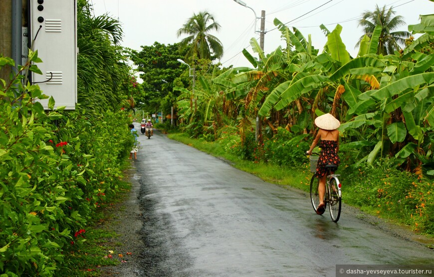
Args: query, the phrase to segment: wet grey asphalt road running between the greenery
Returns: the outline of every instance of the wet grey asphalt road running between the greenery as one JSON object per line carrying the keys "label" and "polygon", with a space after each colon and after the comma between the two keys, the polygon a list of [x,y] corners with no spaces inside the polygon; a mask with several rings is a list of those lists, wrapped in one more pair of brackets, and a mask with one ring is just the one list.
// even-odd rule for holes
{"label": "wet grey asphalt road running between the greenery", "polygon": [[434,264],[433,250],[345,206],[335,224],[328,210],[314,213],[307,193],[266,183],[158,131],[139,141],[140,276],[329,277],[336,264]]}

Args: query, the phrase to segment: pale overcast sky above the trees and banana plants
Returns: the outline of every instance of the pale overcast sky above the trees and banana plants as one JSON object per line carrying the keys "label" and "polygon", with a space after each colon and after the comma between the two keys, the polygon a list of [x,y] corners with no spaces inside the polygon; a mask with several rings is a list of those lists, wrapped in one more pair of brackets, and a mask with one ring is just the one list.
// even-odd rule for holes
{"label": "pale overcast sky above the trees and banana plants", "polygon": [[[243,0],[247,8],[233,0],[90,0],[95,15],[107,13],[119,18],[124,38],[122,45],[141,50],[142,45],[155,41],[164,44],[179,42],[176,32],[194,13],[207,10],[220,24],[213,32],[223,44],[224,55],[220,62],[224,66],[251,66],[241,51],[246,48],[253,54],[249,41],[259,35],[254,32],[254,12],[259,17],[265,10],[264,51],[270,53],[283,45],[279,30],[275,29],[274,18],[287,26],[297,27],[307,38],[311,34],[312,44],[320,49],[327,38],[320,24],[333,30],[337,23],[343,26],[341,37],[353,56],[358,49],[354,46],[362,35],[358,19],[366,10],[393,6],[396,15],[404,16],[407,25],[420,22],[419,15],[434,13],[434,2],[430,0]],[[253,9],[253,10],[252,10]],[[254,12],[253,12],[254,11]],[[306,14],[307,13],[307,14]],[[305,14],[305,15],[304,15]],[[399,30],[408,30],[407,25]],[[257,20],[259,29],[260,20]]]}

